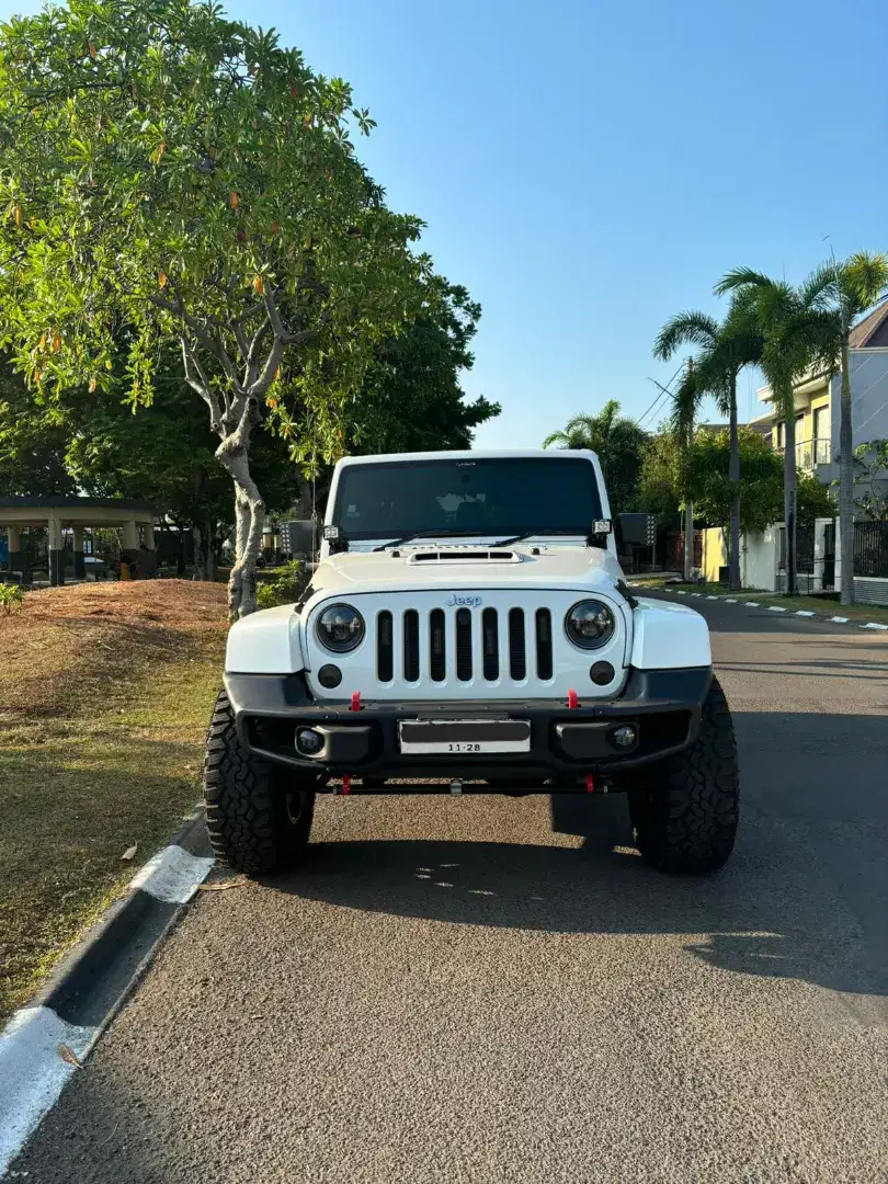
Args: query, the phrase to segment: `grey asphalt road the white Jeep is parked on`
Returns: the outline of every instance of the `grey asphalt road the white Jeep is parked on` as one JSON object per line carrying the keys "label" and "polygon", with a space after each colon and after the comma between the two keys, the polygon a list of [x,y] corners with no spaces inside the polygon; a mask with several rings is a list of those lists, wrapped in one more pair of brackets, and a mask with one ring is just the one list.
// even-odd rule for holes
{"label": "grey asphalt road the white Jeep is parked on", "polygon": [[202,893],[14,1165],[27,1184],[888,1180],[888,641],[695,601],[732,862],[622,799],[326,799]]}

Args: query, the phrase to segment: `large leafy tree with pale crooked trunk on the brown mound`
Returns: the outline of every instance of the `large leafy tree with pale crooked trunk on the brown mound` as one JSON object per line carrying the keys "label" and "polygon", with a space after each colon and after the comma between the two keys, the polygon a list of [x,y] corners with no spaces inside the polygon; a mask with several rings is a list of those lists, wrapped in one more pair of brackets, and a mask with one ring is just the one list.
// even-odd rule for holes
{"label": "large leafy tree with pale crooked trunk on the brown mound", "polygon": [[256,603],[270,414],[340,446],[339,408],[414,311],[419,221],[354,155],[373,121],[274,31],[189,0],[70,0],[0,28],[4,333],[44,397],[112,381],[134,406],[165,343],[208,410],[236,491],[232,618]]}

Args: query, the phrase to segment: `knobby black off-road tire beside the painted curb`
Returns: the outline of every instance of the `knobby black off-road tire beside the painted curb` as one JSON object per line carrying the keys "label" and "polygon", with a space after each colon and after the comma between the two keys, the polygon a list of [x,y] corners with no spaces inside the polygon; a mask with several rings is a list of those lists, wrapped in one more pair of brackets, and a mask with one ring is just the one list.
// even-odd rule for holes
{"label": "knobby black off-road tire beside the painted curb", "polygon": [[308,845],[315,810],[313,786],[281,771],[240,742],[224,690],[210,720],[204,800],[215,855],[237,871],[260,875],[295,868]]}

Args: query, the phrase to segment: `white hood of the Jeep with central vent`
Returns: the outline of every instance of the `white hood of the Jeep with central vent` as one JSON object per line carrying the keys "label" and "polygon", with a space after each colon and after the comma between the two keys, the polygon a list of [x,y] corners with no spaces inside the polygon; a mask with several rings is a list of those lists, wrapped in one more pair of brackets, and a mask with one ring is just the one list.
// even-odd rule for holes
{"label": "white hood of the Jeep with central vent", "polygon": [[[586,546],[488,548],[411,547],[391,552],[346,552],[318,565],[311,588],[318,592],[410,591],[413,588],[612,587],[623,578],[609,552]],[[474,553],[474,558],[469,558]],[[508,555],[509,558],[496,558]]]}

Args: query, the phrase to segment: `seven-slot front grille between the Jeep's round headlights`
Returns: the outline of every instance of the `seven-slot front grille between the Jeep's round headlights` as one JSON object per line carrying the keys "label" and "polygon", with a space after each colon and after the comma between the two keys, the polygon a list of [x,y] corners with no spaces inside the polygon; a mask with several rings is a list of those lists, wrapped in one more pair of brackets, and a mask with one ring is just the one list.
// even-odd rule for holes
{"label": "seven-slot front grille between the Jeep's round headlights", "polygon": [[[392,682],[397,677],[412,683],[426,677],[436,683],[453,677],[458,682],[496,682],[500,678],[523,682],[528,674],[547,682],[553,677],[552,613],[548,609],[471,612],[459,607],[455,612],[432,609],[427,613],[406,609],[399,617],[400,629],[395,630],[390,610],[377,616],[377,678],[380,682]],[[426,669],[423,669],[423,655]]]}

